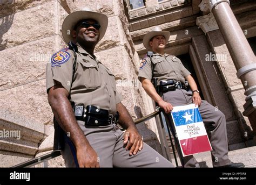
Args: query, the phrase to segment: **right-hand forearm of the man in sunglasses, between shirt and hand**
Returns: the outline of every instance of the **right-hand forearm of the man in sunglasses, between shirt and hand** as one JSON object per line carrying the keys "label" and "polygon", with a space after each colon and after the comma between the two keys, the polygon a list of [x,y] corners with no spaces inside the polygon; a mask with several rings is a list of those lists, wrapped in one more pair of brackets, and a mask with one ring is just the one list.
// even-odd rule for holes
{"label": "right-hand forearm of the man in sunglasses, between shirt and hand", "polygon": [[117,111],[119,112],[119,120],[118,123],[124,128],[127,129],[129,126],[135,126],[129,112],[125,108],[125,106],[122,103],[118,103],[117,105]]}

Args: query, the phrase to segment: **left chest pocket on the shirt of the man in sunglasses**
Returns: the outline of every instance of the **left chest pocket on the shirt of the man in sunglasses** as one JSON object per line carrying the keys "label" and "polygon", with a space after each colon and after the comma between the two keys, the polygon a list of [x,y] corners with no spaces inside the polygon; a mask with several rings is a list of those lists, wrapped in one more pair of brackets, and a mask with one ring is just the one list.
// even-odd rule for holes
{"label": "left chest pocket on the shirt of the man in sunglasses", "polygon": [[100,72],[96,64],[84,61],[83,66],[83,80],[86,89],[97,89],[101,85]]}

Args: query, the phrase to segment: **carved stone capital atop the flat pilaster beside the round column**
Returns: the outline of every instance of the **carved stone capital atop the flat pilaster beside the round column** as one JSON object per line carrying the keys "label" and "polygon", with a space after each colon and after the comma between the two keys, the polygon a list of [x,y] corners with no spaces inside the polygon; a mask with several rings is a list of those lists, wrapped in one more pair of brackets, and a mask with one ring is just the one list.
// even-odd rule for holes
{"label": "carved stone capital atop the flat pilaster beside the round column", "polygon": [[201,16],[197,18],[197,25],[203,32],[206,34],[207,32],[218,30],[219,26],[212,15],[212,13],[209,13],[205,16]]}

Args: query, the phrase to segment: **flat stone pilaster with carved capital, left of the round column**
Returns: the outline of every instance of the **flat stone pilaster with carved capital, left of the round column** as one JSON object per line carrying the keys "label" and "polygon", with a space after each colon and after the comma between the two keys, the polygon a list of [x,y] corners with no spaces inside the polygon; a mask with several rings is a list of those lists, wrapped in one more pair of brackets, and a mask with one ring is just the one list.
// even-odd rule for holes
{"label": "flat stone pilaster with carved capital, left of the round column", "polygon": [[192,40],[195,52],[200,58],[201,64],[198,68],[201,68],[207,79],[204,82],[207,89],[204,88],[204,91],[211,94],[211,101],[206,96],[205,98],[226,116],[229,149],[244,148],[245,140],[252,138],[251,129],[247,126],[250,122],[241,113],[244,111],[242,104],[245,102],[245,90],[241,81],[234,78],[237,70],[212,13],[197,17],[197,25],[206,34]]}

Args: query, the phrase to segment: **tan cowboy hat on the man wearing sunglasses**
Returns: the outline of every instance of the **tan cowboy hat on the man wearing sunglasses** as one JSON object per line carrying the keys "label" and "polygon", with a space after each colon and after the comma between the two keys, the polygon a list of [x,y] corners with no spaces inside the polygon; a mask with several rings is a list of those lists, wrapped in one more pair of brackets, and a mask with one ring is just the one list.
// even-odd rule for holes
{"label": "tan cowboy hat on the man wearing sunglasses", "polygon": [[62,24],[62,36],[66,43],[73,39],[71,31],[74,29],[75,25],[83,19],[96,20],[100,25],[99,40],[103,38],[107,29],[107,23],[109,22],[107,16],[103,13],[94,12],[90,8],[83,8],[80,11],[70,13]]}

